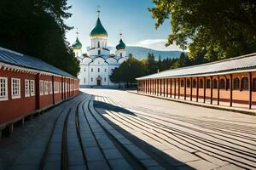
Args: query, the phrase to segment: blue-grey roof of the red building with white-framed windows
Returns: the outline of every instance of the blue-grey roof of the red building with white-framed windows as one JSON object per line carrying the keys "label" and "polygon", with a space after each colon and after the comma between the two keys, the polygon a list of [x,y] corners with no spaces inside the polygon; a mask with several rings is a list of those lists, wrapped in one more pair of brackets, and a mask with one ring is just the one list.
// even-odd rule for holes
{"label": "blue-grey roof of the red building with white-framed windows", "polygon": [[[61,71],[53,65],[49,65],[41,59],[33,58],[31,56],[20,54],[15,51],[1,48],[0,47],[0,63],[20,66],[28,69],[38,70],[38,71],[46,71],[49,73],[53,73],[56,75],[64,76],[64,77],[73,77],[69,73],[65,71]],[[76,78],[76,77],[73,77]]]}

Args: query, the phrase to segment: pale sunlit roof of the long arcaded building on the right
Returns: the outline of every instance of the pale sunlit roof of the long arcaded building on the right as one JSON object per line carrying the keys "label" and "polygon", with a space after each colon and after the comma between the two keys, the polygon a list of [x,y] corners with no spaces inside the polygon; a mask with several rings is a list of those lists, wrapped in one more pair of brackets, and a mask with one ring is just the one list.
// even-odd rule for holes
{"label": "pale sunlit roof of the long arcaded building on the right", "polygon": [[256,69],[256,53],[242,55],[231,59],[219,60],[202,65],[193,65],[183,68],[171,69],[168,71],[161,71],[146,77],[138,77],[137,80],[162,77],[210,76],[214,74],[225,74],[253,69]]}

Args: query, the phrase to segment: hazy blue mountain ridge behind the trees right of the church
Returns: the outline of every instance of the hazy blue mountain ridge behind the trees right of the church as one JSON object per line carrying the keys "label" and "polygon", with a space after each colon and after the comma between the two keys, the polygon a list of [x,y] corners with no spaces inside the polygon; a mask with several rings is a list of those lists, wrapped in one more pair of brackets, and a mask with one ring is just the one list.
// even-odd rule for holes
{"label": "hazy blue mountain ridge behind the trees right of the church", "polygon": [[159,59],[159,56],[161,56],[161,59],[166,58],[177,58],[182,53],[182,51],[160,51],[160,50],[154,50],[151,48],[143,48],[143,47],[136,47],[136,46],[126,46],[126,54],[132,54],[132,56],[136,57],[137,59],[143,59],[148,56],[148,53],[154,54],[154,59]]}

